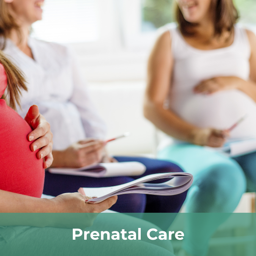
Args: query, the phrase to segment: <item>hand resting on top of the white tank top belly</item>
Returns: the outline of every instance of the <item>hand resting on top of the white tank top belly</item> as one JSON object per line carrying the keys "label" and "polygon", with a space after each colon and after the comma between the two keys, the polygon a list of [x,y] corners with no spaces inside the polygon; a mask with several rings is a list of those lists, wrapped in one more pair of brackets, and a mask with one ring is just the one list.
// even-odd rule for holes
{"label": "hand resting on top of the white tank top belly", "polygon": [[239,89],[245,81],[239,77],[214,77],[203,80],[194,88],[195,93],[212,94],[222,90]]}

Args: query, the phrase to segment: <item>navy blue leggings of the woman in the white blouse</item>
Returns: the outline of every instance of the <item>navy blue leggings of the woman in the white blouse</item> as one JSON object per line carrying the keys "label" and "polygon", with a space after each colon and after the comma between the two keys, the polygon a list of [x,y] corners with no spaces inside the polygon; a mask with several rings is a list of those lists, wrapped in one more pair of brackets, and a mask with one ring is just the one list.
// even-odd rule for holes
{"label": "navy blue leggings of the woman in the white blouse", "polygon": [[[146,172],[141,176],[133,177],[107,177],[93,178],[84,176],[72,176],[63,174],[52,174],[46,172],[44,181],[44,194],[57,196],[62,193],[77,192],[80,187],[109,187],[124,184],[140,177],[154,173],[182,172],[182,169],[174,163],[149,159],[145,157],[115,157],[118,162],[141,162],[146,166]],[[152,181],[152,183],[162,183],[168,179]],[[117,212],[179,212],[187,192],[174,196],[157,196],[145,194],[125,194],[119,195],[116,204],[110,209]],[[138,216],[139,217],[139,216]]]}

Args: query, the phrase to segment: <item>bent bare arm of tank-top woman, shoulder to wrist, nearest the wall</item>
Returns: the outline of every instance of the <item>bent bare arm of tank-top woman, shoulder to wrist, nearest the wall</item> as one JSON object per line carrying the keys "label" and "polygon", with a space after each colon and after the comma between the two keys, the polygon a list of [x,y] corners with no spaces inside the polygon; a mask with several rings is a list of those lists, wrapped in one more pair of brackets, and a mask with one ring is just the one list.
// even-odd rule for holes
{"label": "bent bare arm of tank-top woman, shoulder to wrist, nearest the wall", "polygon": [[163,104],[171,84],[173,56],[170,32],[157,40],[148,61],[148,83],[144,99],[144,115],[163,132],[184,141],[192,141],[197,127],[183,121]]}

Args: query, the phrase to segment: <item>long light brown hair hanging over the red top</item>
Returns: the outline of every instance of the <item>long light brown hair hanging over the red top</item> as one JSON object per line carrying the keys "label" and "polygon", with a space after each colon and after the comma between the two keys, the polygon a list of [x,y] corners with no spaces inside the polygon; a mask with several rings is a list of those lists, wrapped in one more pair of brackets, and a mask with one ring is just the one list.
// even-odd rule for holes
{"label": "long light brown hair hanging over the red top", "polygon": [[8,99],[8,105],[16,110],[16,104],[20,107],[19,98],[21,90],[27,91],[24,76],[22,72],[5,57],[2,51],[0,51],[0,63],[5,68],[7,76],[7,94],[2,96],[2,99]]}

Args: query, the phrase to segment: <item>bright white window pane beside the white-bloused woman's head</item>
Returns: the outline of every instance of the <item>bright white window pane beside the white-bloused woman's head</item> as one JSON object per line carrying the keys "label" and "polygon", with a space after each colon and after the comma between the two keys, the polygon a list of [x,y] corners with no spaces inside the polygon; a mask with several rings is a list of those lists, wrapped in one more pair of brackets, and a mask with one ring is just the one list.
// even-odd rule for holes
{"label": "bright white window pane beside the white-bloused woman's head", "polygon": [[46,0],[43,19],[35,22],[32,36],[61,43],[99,39],[97,0]]}

